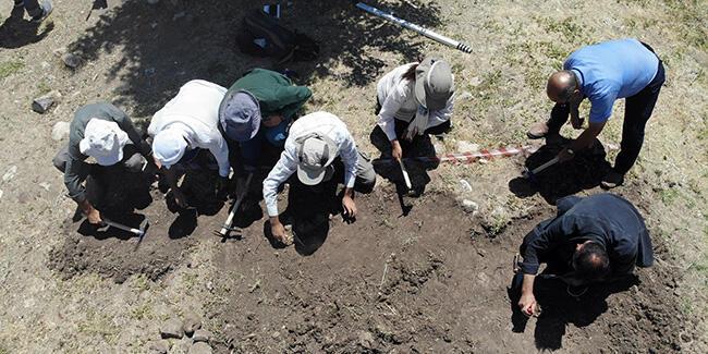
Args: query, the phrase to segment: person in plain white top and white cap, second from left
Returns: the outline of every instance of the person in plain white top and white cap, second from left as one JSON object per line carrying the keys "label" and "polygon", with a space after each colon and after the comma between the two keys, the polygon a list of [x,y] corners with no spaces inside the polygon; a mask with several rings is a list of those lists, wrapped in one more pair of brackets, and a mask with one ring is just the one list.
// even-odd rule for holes
{"label": "person in plain white top and white cap, second from left", "polygon": [[217,194],[228,184],[229,147],[219,132],[219,105],[227,89],[204,80],[193,80],[157,111],[147,129],[152,137],[155,163],[163,168],[174,199],[186,207],[186,199],[176,185],[173,166],[196,156],[197,149],[208,149],[219,166]]}

